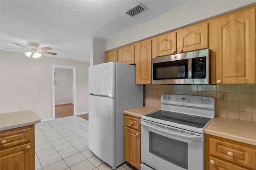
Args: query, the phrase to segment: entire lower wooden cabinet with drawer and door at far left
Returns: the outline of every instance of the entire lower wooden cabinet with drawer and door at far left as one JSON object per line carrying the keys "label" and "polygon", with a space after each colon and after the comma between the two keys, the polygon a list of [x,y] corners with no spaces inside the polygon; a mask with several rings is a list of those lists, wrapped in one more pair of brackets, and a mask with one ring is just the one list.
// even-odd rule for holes
{"label": "entire lower wooden cabinet with drawer and door at far left", "polygon": [[34,125],[0,131],[0,170],[35,169]]}

